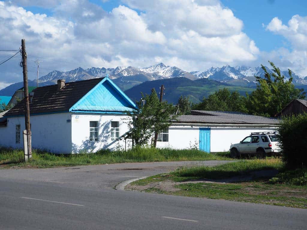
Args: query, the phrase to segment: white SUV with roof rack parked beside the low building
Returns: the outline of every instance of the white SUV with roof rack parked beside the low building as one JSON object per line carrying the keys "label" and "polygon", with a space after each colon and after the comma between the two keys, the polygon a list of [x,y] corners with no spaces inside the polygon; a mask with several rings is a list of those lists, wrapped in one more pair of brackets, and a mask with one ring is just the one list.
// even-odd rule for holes
{"label": "white SUV with roof rack parked beside the low building", "polygon": [[280,155],[276,132],[252,132],[238,144],[231,144],[230,156],[256,155],[258,159]]}

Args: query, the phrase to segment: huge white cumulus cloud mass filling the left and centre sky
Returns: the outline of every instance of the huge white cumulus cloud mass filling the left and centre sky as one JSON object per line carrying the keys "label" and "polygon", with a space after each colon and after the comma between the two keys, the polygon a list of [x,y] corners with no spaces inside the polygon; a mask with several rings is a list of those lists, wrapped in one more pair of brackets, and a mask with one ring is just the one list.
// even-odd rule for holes
{"label": "huge white cumulus cloud mass filling the left and centre sky", "polygon": [[[124,0],[126,6],[111,12],[86,0],[44,2],[0,2],[0,48],[19,47],[25,38],[30,78],[36,57],[44,58],[44,75],[52,69],[156,62],[204,70],[255,61],[260,53],[242,32],[243,22],[217,0]],[[53,15],[33,14],[16,4],[52,7]],[[2,84],[22,80],[17,61],[3,68]]]}

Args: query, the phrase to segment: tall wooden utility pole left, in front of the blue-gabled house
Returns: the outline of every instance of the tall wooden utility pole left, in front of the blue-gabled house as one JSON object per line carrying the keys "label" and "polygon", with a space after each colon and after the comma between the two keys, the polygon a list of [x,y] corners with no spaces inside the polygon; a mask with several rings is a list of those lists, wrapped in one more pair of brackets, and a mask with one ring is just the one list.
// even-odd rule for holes
{"label": "tall wooden utility pole left, in front of the blue-gabled house", "polygon": [[32,157],[31,148],[31,128],[30,128],[30,105],[29,105],[29,88],[28,88],[28,70],[27,70],[27,52],[25,51],[25,39],[21,40],[22,72],[23,72],[23,90],[25,94],[25,129],[27,130],[27,150],[25,160]]}

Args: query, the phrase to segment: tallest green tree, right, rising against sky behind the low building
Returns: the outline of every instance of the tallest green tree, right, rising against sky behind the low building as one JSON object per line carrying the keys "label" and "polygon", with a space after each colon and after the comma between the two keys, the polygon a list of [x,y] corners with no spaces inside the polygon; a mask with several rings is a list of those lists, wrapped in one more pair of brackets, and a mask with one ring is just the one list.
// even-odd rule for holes
{"label": "tallest green tree, right, rising against sky behind the low building", "polygon": [[304,99],[303,89],[297,89],[292,83],[292,72],[289,71],[289,80],[281,74],[280,69],[269,61],[273,68],[273,73],[269,73],[261,65],[265,72],[264,78],[255,76],[258,83],[257,89],[251,94],[246,95],[246,108],[248,113],[266,117],[274,117],[279,113],[292,99]]}

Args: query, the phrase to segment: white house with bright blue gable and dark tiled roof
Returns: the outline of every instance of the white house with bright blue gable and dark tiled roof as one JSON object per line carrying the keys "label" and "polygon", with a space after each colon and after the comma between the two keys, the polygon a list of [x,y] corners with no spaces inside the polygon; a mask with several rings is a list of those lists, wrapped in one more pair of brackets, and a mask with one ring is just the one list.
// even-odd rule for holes
{"label": "white house with bright blue gable and dark tiled roof", "polygon": [[[32,91],[30,123],[33,148],[80,153],[125,146],[126,111],[136,105],[108,78],[44,86]],[[24,101],[0,119],[0,145],[23,148]]]}

